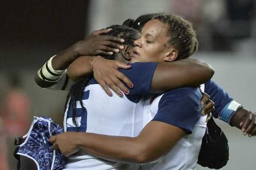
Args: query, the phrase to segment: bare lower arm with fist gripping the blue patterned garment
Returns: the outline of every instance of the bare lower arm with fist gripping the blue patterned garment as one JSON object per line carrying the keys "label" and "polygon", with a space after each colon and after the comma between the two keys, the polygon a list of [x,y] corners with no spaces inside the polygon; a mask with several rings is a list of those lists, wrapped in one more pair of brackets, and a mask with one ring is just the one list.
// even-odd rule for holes
{"label": "bare lower arm with fist gripping the blue patterned garment", "polygon": [[64,156],[82,149],[111,161],[146,163],[167,153],[185,134],[179,127],[151,121],[137,137],[66,132],[53,136],[50,142],[54,143],[53,149],[59,148]]}

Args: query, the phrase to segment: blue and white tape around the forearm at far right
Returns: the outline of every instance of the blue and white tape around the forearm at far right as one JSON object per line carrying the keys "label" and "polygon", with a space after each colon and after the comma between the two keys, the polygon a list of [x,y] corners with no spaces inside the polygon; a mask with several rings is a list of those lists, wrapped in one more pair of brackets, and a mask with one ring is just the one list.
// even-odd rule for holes
{"label": "blue and white tape around the forearm at far right", "polygon": [[219,113],[218,118],[229,124],[232,114],[237,110],[237,108],[239,108],[239,106],[241,106],[241,104],[235,100],[232,100],[231,102],[227,103],[227,105],[225,105],[225,107]]}

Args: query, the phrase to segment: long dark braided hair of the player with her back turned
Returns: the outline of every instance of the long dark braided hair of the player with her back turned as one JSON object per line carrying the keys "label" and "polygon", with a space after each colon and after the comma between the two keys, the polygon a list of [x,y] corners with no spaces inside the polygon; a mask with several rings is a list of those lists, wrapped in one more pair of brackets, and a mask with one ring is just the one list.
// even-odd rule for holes
{"label": "long dark braided hair of the player with her back turned", "polygon": [[[105,34],[105,35],[123,38],[125,40],[125,42],[124,42],[125,45],[133,46],[134,40],[137,40],[137,38],[140,37],[139,31],[137,31],[133,28],[129,28],[127,26],[113,25],[108,28],[112,28],[112,30],[109,31],[109,33]],[[114,55],[110,55],[110,56],[102,56],[102,57],[104,57],[105,59],[113,60],[117,57],[117,55],[119,55],[119,54],[114,54]],[[80,105],[83,108],[82,113],[84,113],[85,108],[84,108],[81,98],[82,98],[82,95],[84,92],[84,88],[86,87],[86,85],[88,84],[90,79],[92,79],[92,78],[93,78],[93,76],[80,79],[78,82],[76,82],[74,85],[71,86],[70,91],[67,95],[65,111],[67,109],[67,104],[69,103],[68,110],[70,109],[70,107],[72,107],[72,111],[73,111],[72,121],[76,126],[77,126],[77,124],[76,124],[76,101],[80,102]]]}

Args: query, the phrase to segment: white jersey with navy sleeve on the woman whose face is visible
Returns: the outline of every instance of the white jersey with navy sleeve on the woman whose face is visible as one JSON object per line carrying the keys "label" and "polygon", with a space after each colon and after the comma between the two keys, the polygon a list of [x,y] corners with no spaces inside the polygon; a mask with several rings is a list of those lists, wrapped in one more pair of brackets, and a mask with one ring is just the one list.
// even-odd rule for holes
{"label": "white jersey with navy sleeve on the woman whose face is visible", "polygon": [[[173,91],[176,92],[173,93],[172,91],[169,91],[166,94],[157,96],[154,100],[145,100],[143,125],[151,120],[157,120],[185,129],[188,131],[188,134],[183,136],[183,138],[175,144],[175,147],[164,156],[161,156],[151,163],[142,164],[140,170],[195,169],[202,138],[206,130],[206,116],[200,116],[201,93],[199,90],[196,91],[193,88],[180,88]],[[177,100],[175,99],[175,96],[172,95],[177,95]],[[165,103],[167,100],[171,102]],[[166,111],[163,111],[163,108]],[[158,114],[160,114],[160,116]]]}

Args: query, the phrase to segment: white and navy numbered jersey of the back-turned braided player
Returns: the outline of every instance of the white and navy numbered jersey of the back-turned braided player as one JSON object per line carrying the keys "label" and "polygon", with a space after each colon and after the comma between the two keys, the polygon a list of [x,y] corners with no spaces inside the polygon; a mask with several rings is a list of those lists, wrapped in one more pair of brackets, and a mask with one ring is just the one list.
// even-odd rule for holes
{"label": "white and navy numbered jersey of the back-turned braided player", "polygon": [[[151,80],[157,66],[155,62],[136,62],[132,68],[122,71],[134,84],[130,94],[120,98],[105,94],[103,88],[90,80],[84,89],[82,102],[76,102],[76,122],[72,121],[72,106],[64,113],[64,131],[98,133],[112,136],[137,136],[143,128],[143,95],[150,91]],[[69,109],[68,109],[69,108]],[[83,151],[68,158],[65,170],[124,170],[136,169],[139,165],[122,164],[99,159]]]}

